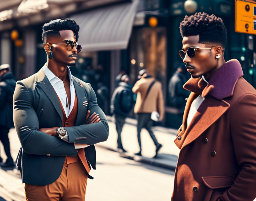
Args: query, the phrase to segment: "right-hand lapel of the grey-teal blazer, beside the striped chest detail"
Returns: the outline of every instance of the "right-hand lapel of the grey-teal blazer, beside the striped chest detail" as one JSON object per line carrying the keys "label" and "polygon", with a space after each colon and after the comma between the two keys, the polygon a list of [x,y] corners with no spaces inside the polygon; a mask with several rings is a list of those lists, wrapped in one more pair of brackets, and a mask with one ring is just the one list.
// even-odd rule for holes
{"label": "right-hand lapel of the grey-teal blazer, beside the striped chest detail", "polygon": [[[75,94],[77,96],[77,104],[78,104],[77,119],[75,122],[75,126],[78,126],[83,124],[85,121],[87,107],[83,106],[83,102],[88,100],[87,100],[87,96],[85,94],[85,89],[83,85],[79,81],[77,81],[74,77],[73,77],[73,83],[75,87]],[[86,99],[84,99],[85,97]]]}

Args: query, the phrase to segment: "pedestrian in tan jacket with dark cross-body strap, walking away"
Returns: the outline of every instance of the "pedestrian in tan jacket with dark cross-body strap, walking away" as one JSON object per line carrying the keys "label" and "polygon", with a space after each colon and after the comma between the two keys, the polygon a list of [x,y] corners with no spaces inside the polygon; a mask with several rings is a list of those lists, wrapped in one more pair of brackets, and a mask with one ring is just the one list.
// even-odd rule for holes
{"label": "pedestrian in tan jacket with dark cross-body strap, walking away", "polygon": [[159,120],[164,116],[164,101],[162,84],[156,81],[151,75],[143,73],[141,79],[139,79],[132,88],[133,93],[137,93],[137,99],[134,107],[134,113],[137,114],[137,135],[140,151],[136,155],[141,156],[141,129],[146,128],[149,132],[155,146],[155,156],[162,144],[159,144],[152,131],[153,120],[151,119],[152,112],[159,113]]}

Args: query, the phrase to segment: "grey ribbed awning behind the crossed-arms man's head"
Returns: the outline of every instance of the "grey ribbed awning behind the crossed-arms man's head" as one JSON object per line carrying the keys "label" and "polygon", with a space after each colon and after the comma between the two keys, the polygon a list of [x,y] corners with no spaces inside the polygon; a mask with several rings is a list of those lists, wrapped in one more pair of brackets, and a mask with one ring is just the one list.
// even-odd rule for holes
{"label": "grey ribbed awning behind the crossed-arms man's head", "polygon": [[135,0],[71,15],[80,27],[82,51],[126,49],[137,5]]}

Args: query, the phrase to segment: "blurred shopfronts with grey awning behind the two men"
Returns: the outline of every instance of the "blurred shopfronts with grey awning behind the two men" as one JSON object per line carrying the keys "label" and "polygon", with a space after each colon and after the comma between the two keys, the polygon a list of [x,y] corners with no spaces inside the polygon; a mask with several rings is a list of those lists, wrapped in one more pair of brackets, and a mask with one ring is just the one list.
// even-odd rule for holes
{"label": "blurred shopfronts with grey awning behind the two men", "polygon": [[223,19],[228,34],[226,61],[238,59],[244,78],[256,84],[254,35],[235,33],[233,0],[0,0],[0,9],[0,63],[9,63],[17,80],[33,75],[46,62],[43,24],[74,19],[83,48],[72,73],[95,91],[105,86],[105,101],[97,97],[106,114],[115,77],[122,71],[135,83],[139,70],[145,68],[163,84],[166,116],[161,125],[179,128],[183,112],[169,106],[168,82],[177,69],[174,63],[181,61],[179,23],[195,12]]}

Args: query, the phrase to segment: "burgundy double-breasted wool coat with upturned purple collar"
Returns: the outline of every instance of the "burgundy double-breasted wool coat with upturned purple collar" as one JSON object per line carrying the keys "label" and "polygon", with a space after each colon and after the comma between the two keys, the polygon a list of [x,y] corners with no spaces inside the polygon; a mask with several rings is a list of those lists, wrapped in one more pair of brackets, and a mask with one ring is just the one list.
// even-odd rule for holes
{"label": "burgundy double-breasted wool coat with upturned purple collar", "polygon": [[[189,79],[191,91],[174,142],[180,149],[172,201],[252,201],[256,197],[256,90],[239,61],[209,80]],[[206,86],[207,85],[207,86]],[[192,101],[202,95],[189,126]]]}

